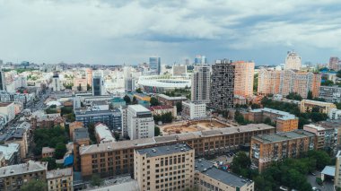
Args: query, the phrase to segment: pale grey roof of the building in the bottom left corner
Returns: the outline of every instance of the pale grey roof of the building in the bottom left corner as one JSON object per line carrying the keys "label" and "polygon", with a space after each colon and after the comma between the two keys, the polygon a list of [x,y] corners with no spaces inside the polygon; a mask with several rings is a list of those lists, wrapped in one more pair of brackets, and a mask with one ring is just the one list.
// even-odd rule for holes
{"label": "pale grey roof of the building in the bottom left corner", "polygon": [[6,166],[0,168],[0,178],[14,176],[14,175],[22,175],[26,173],[47,170],[48,162],[41,161],[28,161],[22,164],[15,164],[11,166]]}

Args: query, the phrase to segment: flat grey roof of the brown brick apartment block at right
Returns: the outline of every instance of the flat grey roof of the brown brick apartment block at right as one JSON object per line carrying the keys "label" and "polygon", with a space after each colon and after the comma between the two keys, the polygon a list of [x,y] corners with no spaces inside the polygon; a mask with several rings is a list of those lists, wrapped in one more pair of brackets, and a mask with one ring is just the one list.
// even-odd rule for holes
{"label": "flat grey roof of the brown brick apartment block at right", "polygon": [[275,142],[283,142],[283,141],[309,137],[309,136],[314,136],[314,134],[308,131],[304,131],[302,129],[297,129],[294,131],[281,132],[281,133],[276,133],[276,134],[271,134],[271,135],[256,135],[256,136],[253,136],[252,138],[257,139],[258,141],[262,143],[275,143]]}

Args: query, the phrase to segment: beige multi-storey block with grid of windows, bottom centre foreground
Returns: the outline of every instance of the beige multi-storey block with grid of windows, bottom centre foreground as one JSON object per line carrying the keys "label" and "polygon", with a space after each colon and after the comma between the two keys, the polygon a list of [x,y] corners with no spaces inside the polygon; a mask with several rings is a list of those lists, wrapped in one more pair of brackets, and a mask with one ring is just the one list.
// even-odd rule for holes
{"label": "beige multi-storey block with grid of windows, bottom centre foreground", "polygon": [[141,191],[193,189],[194,150],[187,143],[136,150],[134,163]]}

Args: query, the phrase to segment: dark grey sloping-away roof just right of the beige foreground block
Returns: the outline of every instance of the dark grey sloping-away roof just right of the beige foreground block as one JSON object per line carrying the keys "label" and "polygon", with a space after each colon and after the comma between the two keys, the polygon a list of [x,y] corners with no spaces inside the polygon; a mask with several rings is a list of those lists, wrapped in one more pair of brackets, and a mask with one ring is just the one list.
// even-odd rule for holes
{"label": "dark grey sloping-away roof just right of the beige foreground block", "polygon": [[220,182],[231,187],[243,187],[244,185],[252,184],[252,180],[247,178],[240,178],[231,172],[223,171],[222,169],[217,169],[214,163],[211,161],[206,161],[204,159],[196,160],[196,170],[205,176],[214,178]]}

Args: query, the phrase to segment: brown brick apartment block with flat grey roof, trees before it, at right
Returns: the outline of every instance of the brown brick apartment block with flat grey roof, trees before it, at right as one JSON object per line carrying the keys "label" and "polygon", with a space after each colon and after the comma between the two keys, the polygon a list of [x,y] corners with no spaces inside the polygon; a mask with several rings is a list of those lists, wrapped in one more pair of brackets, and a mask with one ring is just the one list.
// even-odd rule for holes
{"label": "brown brick apartment block with flat grey roof, trees before it, at right", "polygon": [[315,135],[298,129],[272,135],[256,135],[251,138],[249,156],[251,167],[262,171],[272,161],[296,158],[315,149]]}

